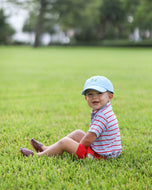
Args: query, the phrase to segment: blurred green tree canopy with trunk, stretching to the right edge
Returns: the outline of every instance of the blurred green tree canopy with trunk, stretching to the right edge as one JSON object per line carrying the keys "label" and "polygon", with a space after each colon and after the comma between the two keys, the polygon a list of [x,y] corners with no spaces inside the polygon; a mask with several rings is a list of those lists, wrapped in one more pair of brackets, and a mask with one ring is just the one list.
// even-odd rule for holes
{"label": "blurred green tree canopy with trunk, stretching to the right edge", "polygon": [[86,42],[128,38],[135,27],[152,30],[151,0],[7,1],[29,10],[23,29],[35,32],[35,47],[41,35],[53,33],[56,25],[65,33],[72,29],[76,41]]}

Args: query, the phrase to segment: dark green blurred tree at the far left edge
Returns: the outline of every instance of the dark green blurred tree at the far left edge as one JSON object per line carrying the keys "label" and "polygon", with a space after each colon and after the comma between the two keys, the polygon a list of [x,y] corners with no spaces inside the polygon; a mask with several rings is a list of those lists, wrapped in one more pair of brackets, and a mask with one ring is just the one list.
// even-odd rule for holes
{"label": "dark green blurred tree at the far left edge", "polygon": [[15,30],[6,22],[4,11],[0,10],[0,44],[9,44]]}

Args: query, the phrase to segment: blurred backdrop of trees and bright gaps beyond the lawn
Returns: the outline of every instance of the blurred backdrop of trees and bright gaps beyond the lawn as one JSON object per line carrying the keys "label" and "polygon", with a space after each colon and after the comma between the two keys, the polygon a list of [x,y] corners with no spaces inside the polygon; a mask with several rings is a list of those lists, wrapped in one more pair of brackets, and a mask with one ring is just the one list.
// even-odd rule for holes
{"label": "blurred backdrop of trees and bright gaps beyond the lawn", "polygon": [[151,0],[0,0],[0,45],[152,46]]}

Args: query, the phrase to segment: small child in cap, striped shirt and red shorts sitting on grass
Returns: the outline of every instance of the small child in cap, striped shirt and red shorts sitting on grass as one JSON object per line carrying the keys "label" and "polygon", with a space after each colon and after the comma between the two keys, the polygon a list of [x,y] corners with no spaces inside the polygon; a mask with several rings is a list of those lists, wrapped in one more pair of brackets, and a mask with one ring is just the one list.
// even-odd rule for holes
{"label": "small child in cap, striped shirt and red shorts sitting on grass", "polygon": [[109,79],[104,76],[89,78],[82,91],[82,95],[92,108],[88,132],[75,130],[50,146],[45,146],[32,138],[30,142],[37,153],[26,148],[20,148],[20,153],[23,156],[40,157],[61,155],[66,151],[77,155],[79,159],[117,157],[121,154],[122,147],[118,121],[111,106],[113,94],[114,88]]}

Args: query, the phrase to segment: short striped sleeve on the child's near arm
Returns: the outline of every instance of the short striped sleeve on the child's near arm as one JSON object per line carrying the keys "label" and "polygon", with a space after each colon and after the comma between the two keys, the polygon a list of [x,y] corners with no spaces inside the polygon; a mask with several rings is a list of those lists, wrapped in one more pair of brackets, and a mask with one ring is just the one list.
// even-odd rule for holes
{"label": "short striped sleeve on the child's near arm", "polygon": [[107,120],[104,115],[97,115],[90,125],[89,132],[95,133],[97,138],[107,129]]}

